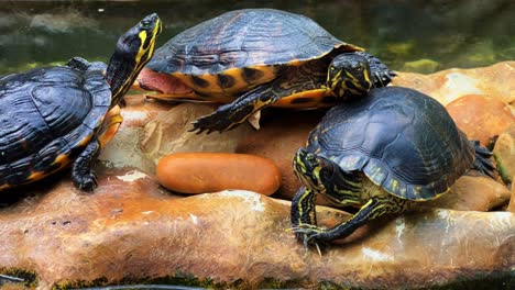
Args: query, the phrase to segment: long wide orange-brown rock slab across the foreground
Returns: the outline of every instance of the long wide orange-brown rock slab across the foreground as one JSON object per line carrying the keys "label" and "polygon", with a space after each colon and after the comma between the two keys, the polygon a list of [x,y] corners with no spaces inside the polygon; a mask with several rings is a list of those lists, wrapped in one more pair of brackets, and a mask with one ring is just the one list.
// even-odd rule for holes
{"label": "long wide orange-brown rock slab across the foreground", "polygon": [[[28,274],[40,289],[128,282],[395,289],[457,280],[478,287],[478,277],[493,287],[489,279],[506,279],[515,268],[509,212],[434,209],[382,219],[319,256],[288,231],[288,202],[248,191],[175,198],[139,171],[99,177],[94,194],[63,179],[1,209],[0,274]],[[320,224],[348,217],[318,208]]]}

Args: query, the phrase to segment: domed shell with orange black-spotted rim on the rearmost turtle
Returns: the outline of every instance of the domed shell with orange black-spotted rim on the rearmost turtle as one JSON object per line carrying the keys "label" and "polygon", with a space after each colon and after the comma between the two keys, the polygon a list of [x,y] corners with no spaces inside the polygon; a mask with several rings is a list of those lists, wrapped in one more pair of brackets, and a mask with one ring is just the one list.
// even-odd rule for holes
{"label": "domed shell with orange black-spotted rim on the rearmost turtle", "polygon": [[304,15],[273,9],[230,11],[193,26],[156,49],[146,68],[169,74],[196,91],[237,93],[274,79],[347,44]]}

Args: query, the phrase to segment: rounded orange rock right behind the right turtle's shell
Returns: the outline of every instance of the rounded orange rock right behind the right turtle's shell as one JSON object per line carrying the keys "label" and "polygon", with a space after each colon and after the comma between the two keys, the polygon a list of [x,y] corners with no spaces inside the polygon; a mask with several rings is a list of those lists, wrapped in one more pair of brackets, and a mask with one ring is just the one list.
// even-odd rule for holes
{"label": "rounded orange rock right behind the right turtle's shell", "polygon": [[515,124],[509,107],[492,97],[467,94],[447,104],[446,109],[467,136],[479,140],[483,146]]}

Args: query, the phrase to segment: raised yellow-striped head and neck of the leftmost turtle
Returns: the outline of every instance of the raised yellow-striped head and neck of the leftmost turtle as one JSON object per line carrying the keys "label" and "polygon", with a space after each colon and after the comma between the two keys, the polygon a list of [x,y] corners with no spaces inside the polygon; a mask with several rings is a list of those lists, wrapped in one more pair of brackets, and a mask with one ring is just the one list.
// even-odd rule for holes
{"label": "raised yellow-striped head and neck of the leftmost turtle", "polygon": [[155,41],[161,31],[161,20],[156,13],[153,13],[118,40],[106,71],[106,80],[112,91],[111,107],[122,100],[141,69],[154,55]]}

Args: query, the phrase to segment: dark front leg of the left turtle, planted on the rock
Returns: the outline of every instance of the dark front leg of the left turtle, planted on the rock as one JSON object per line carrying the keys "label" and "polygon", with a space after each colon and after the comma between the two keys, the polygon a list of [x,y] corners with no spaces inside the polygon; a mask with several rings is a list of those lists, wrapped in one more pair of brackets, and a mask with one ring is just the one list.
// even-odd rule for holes
{"label": "dark front leg of the left turtle, planted on the rock", "polygon": [[92,191],[97,187],[97,176],[91,168],[99,154],[100,143],[94,137],[77,159],[75,159],[72,168],[72,179],[80,190]]}

